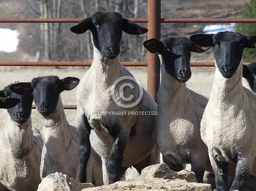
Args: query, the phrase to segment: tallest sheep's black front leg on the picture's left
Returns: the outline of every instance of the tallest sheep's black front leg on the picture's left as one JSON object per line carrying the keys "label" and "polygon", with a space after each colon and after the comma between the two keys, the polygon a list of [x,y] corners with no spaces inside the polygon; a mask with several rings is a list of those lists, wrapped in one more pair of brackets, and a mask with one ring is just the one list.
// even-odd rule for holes
{"label": "tallest sheep's black front leg on the picture's left", "polygon": [[91,129],[87,117],[83,114],[82,120],[78,121],[78,169],[76,175],[76,180],[81,183],[86,183],[86,167],[91,153],[89,138]]}

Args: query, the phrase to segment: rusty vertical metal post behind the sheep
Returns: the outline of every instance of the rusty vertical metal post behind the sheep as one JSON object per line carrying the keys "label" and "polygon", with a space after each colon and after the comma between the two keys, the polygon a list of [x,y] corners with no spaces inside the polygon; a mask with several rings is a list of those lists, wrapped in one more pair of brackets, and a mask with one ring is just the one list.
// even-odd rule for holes
{"label": "rusty vertical metal post behind the sheep", "polygon": [[[148,0],[148,39],[160,40],[161,0]],[[148,93],[157,102],[160,86],[160,60],[157,54],[148,52]]]}

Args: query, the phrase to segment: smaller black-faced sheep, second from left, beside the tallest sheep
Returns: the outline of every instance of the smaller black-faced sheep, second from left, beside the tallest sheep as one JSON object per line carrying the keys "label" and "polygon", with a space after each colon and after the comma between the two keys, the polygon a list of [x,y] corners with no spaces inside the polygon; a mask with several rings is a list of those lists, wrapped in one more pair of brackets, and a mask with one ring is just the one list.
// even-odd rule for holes
{"label": "smaller black-faced sheep, second from left, beside the tallest sheep", "polygon": [[[76,176],[77,127],[67,122],[60,93],[74,89],[78,83],[79,79],[75,77],[59,79],[58,76],[41,76],[32,79],[34,101],[41,114],[43,126],[41,178],[56,172],[62,172],[73,178]],[[103,185],[101,166],[101,158],[94,151],[88,164],[87,181],[95,186]]]}

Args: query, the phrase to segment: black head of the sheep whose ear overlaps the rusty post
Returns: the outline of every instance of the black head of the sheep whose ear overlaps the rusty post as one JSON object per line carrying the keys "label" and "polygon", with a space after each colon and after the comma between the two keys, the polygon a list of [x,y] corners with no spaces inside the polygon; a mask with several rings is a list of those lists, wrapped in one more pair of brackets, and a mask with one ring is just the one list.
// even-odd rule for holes
{"label": "black head of the sheep whose ear overlaps the rusty post", "polygon": [[165,72],[180,83],[187,82],[191,77],[190,52],[202,53],[210,48],[200,47],[188,38],[179,36],[169,36],[163,41],[150,39],[143,45],[149,52],[162,56]]}

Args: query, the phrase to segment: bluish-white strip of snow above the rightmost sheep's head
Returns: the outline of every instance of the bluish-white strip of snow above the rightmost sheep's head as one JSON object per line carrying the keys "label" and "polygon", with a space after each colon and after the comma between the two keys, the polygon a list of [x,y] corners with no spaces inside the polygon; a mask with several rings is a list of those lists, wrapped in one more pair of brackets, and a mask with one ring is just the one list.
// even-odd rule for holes
{"label": "bluish-white strip of snow above the rightmost sheep's head", "polygon": [[221,31],[232,31],[235,32],[235,23],[227,24],[215,24],[215,25],[207,25],[204,27],[204,34],[216,34]]}

